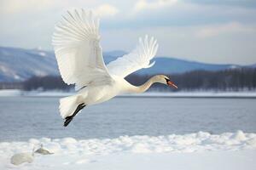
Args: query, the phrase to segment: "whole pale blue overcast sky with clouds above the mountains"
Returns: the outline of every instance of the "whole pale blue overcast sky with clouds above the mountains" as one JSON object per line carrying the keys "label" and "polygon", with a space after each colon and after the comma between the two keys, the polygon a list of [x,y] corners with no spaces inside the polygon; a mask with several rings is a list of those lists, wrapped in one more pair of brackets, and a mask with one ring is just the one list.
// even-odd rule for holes
{"label": "whole pale blue overcast sky with clouds above the mountains", "polygon": [[67,9],[101,18],[103,51],[131,51],[138,37],[158,39],[158,56],[207,63],[256,63],[255,0],[0,0],[0,46],[52,50]]}

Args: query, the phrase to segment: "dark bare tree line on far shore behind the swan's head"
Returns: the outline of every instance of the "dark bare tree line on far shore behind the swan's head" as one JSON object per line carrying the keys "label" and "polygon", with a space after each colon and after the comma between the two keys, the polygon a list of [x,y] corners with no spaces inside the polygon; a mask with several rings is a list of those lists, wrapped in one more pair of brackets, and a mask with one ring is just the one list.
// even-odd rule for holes
{"label": "dark bare tree line on far shore behind the swan's head", "polygon": [[[133,85],[141,85],[154,75],[131,74],[125,79]],[[155,83],[149,90],[152,91],[239,91],[256,89],[256,68],[239,68],[224,71],[189,71],[182,74],[166,75],[177,84],[178,89],[168,88]],[[61,77],[31,77],[25,82],[0,82],[0,88],[19,88],[23,90],[65,90],[73,89],[67,86]]]}

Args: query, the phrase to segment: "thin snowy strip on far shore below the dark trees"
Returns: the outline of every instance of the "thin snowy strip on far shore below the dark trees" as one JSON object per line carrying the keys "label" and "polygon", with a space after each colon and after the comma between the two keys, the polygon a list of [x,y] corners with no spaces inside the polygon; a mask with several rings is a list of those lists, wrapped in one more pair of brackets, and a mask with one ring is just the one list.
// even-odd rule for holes
{"label": "thin snowy strip on far shore below the dark trees", "polygon": [[[18,89],[0,90],[1,96],[31,96],[31,97],[64,97],[72,92],[62,91],[21,91]],[[172,97],[172,98],[256,98],[256,91],[241,92],[147,92],[143,94],[121,94],[119,97]]]}

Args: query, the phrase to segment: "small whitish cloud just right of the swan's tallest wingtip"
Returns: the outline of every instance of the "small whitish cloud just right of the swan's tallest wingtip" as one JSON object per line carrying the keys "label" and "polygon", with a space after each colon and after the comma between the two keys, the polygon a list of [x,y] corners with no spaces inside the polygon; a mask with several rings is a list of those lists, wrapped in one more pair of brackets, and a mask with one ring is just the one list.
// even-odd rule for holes
{"label": "small whitish cloud just right of the swan's tallest wingtip", "polygon": [[114,7],[113,5],[107,4],[107,3],[94,8],[93,11],[95,14],[97,14],[100,17],[113,16],[113,15],[119,13],[118,8]]}

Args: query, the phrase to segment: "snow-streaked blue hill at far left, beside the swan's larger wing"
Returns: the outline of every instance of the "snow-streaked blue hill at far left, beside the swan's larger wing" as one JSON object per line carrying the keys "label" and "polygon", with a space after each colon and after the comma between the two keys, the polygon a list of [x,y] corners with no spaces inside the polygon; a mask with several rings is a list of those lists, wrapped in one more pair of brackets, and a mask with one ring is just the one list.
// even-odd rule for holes
{"label": "snow-streaked blue hill at far left, beside the swan's larger wing", "polygon": [[55,55],[51,52],[0,47],[0,82],[18,82],[32,76],[58,74]]}

